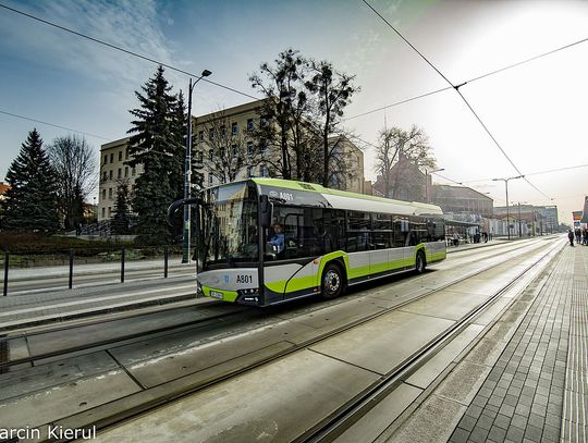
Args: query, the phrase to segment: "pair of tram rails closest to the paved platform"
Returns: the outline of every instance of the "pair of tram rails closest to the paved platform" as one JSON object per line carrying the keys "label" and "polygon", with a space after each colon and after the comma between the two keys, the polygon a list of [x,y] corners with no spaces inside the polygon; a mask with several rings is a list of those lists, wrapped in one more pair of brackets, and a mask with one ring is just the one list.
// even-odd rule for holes
{"label": "pair of tram rails closest to the paved platform", "polygon": [[[542,247],[541,245],[540,247]],[[548,253],[542,254],[541,257],[534,261],[531,264],[529,264],[524,271],[518,273],[514,279],[512,279],[507,284],[505,284],[501,290],[497,291],[492,297],[490,297],[486,303],[470,311],[467,316],[464,317],[462,321],[458,322],[458,325],[455,328],[451,328],[450,330],[442,333],[440,336],[434,339],[431,343],[429,343],[424,348],[419,349],[416,354],[411,356],[411,358],[407,361],[404,361],[402,365],[400,365],[393,373],[390,373],[390,377],[387,377],[389,381],[397,377],[399,373],[401,373],[402,370],[406,370],[411,365],[414,365],[419,359],[424,358],[424,355],[427,352],[430,352],[436,345],[441,343],[444,339],[448,336],[451,336],[452,334],[456,333],[458,328],[463,328],[464,324],[467,323],[468,319],[473,318],[481,309],[493,303],[497,297],[500,296],[504,291],[507,291],[509,287],[511,287],[513,284],[515,284],[518,279],[524,275],[526,272],[528,272],[534,266],[536,266],[539,261],[543,260],[552,250],[556,249],[558,247],[561,247],[559,243],[555,243],[555,245],[548,250]],[[531,247],[527,251],[528,254],[536,253],[539,247]],[[504,255],[502,253],[501,255]],[[441,292],[443,290],[446,290],[448,287],[455,285],[460,282],[463,282],[465,280],[468,280],[473,276],[479,275],[481,272],[492,270],[497,268],[498,266],[504,264],[504,261],[497,262],[490,267],[487,267],[483,269],[483,271],[476,270],[474,272],[468,273],[467,275],[463,275],[460,279],[453,280],[451,282],[448,282],[446,284],[443,284],[439,287],[436,287],[433,290],[430,290],[424,294],[420,294],[416,297],[412,297],[402,302],[399,302],[394,306],[391,306],[390,308],[385,308],[382,311],[379,311],[377,313],[366,316],[362,319],[348,322],[347,324],[343,327],[335,328],[327,333],[318,334],[311,339],[308,339],[306,341],[303,341],[301,343],[294,344],[291,343],[291,346],[285,346],[283,348],[279,347],[271,347],[269,346],[269,349],[260,349],[259,356],[256,357],[254,355],[255,353],[252,353],[252,355],[245,356],[246,360],[249,360],[249,362],[246,366],[240,366],[238,365],[238,358],[233,361],[233,369],[226,370],[224,372],[216,372],[215,367],[209,368],[208,376],[204,374],[199,377],[194,377],[196,374],[188,374],[184,376],[182,378],[170,380],[168,382],[161,383],[159,385],[156,385],[154,387],[147,389],[143,392],[139,392],[138,394],[131,395],[128,397],[121,398],[120,401],[111,402],[109,405],[102,405],[98,406],[96,408],[88,409],[83,413],[75,414],[73,416],[66,417],[61,420],[57,420],[54,423],[63,427],[76,427],[76,428],[84,428],[88,426],[96,426],[97,429],[107,429],[110,427],[113,427],[118,423],[121,423],[130,418],[136,417],[138,415],[148,413],[157,407],[160,407],[162,405],[166,405],[170,402],[183,398],[187,395],[194,394],[205,387],[212,386],[215,384],[221,383],[225,380],[229,380],[231,378],[244,374],[255,368],[258,368],[264,365],[268,365],[277,359],[280,359],[282,357],[285,357],[290,354],[296,353],[301,349],[307,348],[308,346],[315,345],[321,341],[324,341],[327,339],[333,337],[338,334],[341,334],[342,332],[352,330],[356,327],[359,327],[362,324],[365,324],[367,322],[373,321],[375,319],[382,317],[384,315],[388,315],[392,312],[393,310],[396,310],[403,306],[406,306],[411,303],[417,302],[421,298],[428,297],[434,293]],[[275,350],[275,352],[274,352]],[[267,354],[267,355],[264,355]],[[204,371],[207,372],[207,371]],[[366,395],[372,395],[373,390],[377,389],[376,386],[372,387]],[[355,402],[353,405],[356,405],[358,402],[357,398],[355,398]],[[353,406],[351,405],[351,406]],[[343,410],[339,411],[343,414]],[[332,417],[330,418],[332,420]],[[326,424],[326,423],[322,423]],[[310,438],[314,438],[315,433],[320,432],[320,429],[314,429],[311,434],[304,435],[302,440],[307,440]]]}

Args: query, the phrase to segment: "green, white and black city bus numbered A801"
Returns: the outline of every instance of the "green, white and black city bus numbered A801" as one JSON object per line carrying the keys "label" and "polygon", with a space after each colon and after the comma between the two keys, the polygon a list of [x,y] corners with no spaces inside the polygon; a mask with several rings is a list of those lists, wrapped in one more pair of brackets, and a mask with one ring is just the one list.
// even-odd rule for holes
{"label": "green, white and black city bus numbered A801", "polygon": [[397,272],[424,272],[446,257],[441,208],[249,179],[175,201],[195,208],[197,293],[268,306],[321,295]]}

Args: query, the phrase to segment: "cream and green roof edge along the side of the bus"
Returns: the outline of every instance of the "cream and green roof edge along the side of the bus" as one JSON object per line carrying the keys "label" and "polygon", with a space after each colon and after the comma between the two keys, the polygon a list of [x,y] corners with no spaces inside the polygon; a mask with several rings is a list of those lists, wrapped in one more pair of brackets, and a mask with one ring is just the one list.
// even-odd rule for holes
{"label": "cream and green roof edge along the side of the bus", "polygon": [[[348,193],[346,190],[331,189],[316,183],[305,183],[281,179],[250,179],[261,186],[264,194],[292,200],[301,205],[326,206],[335,209],[346,209],[365,212],[382,212],[399,216],[441,216],[443,211],[439,206],[418,201],[402,201],[390,198],[376,197]],[[289,193],[292,190],[295,193]],[[314,195],[311,199],[304,195]]]}

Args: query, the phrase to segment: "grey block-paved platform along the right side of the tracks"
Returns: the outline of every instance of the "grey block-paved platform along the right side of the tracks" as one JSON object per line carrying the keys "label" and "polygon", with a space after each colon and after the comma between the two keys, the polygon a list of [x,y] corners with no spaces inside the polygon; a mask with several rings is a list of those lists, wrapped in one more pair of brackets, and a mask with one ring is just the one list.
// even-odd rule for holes
{"label": "grey block-paved platform along the right side of the tracks", "polygon": [[[403,406],[399,394],[384,407],[383,432],[380,427],[368,436],[366,421],[355,436],[365,432],[366,441],[399,443],[586,442],[587,299],[588,247],[565,245],[483,339],[420,395],[422,401]],[[404,387],[413,387],[411,382],[421,389],[413,377]],[[384,415],[376,413],[372,424]]]}

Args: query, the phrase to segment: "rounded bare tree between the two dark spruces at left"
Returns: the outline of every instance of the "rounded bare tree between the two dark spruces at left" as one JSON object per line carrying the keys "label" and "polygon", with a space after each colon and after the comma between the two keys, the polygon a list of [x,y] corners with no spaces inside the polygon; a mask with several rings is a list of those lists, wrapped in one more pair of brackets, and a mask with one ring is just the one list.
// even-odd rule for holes
{"label": "rounded bare tree between the two dark spruces at left", "polygon": [[84,221],[84,201],[96,188],[96,158],[85,138],[58,137],[48,148],[58,176],[58,201],[64,227],[71,230]]}

